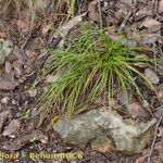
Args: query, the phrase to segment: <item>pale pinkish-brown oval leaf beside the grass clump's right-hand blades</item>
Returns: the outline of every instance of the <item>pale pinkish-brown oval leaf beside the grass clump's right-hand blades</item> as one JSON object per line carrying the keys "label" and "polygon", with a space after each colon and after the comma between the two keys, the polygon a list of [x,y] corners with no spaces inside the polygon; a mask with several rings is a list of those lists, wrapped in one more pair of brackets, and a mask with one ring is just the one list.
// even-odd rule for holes
{"label": "pale pinkish-brown oval leaf beside the grass clump's right-hand blades", "polygon": [[159,84],[160,82],[160,78],[159,76],[155,74],[155,72],[153,72],[152,70],[150,68],[146,68],[145,70],[145,75],[146,77],[152,83],[152,84]]}

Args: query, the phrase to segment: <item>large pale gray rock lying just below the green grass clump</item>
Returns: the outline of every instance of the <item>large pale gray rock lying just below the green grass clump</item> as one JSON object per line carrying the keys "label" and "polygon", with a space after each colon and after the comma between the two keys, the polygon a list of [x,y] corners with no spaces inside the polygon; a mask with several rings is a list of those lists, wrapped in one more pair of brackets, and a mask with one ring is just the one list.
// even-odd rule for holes
{"label": "large pale gray rock lying just below the green grass clump", "polygon": [[[108,143],[109,137],[115,145],[115,149],[125,152],[141,152],[148,143],[151,126],[155,120],[148,123],[136,123],[133,120],[123,120],[116,112],[105,109],[91,110],[73,118],[62,118],[54,129],[67,143],[78,145],[84,148],[88,142],[98,146],[97,142]],[[100,140],[99,139],[105,139]],[[106,145],[105,143],[105,145]],[[109,146],[109,143],[108,143]],[[105,148],[110,149],[110,148]],[[101,151],[101,150],[100,150]]]}

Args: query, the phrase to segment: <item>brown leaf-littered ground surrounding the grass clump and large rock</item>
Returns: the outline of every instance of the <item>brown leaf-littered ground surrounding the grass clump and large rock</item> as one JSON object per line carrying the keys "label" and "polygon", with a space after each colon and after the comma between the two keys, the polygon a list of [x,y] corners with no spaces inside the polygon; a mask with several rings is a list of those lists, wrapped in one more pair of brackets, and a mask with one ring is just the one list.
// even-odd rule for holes
{"label": "brown leaf-littered ground surrounding the grass clump and large rock", "polygon": [[116,150],[100,152],[90,145],[82,149],[65,143],[51,127],[49,116],[37,127],[38,112],[35,108],[45,83],[53,80],[52,76],[47,76],[42,82],[40,75],[40,68],[49,55],[48,49],[58,48],[68,32],[76,32],[72,29],[76,29],[80,22],[109,27],[112,39],[122,40],[131,47],[149,48],[152,58],[163,58],[163,0],[78,0],[71,14],[65,1],[58,1],[55,8],[50,0],[37,1],[35,12],[29,10],[28,1],[24,2],[26,5],[17,14],[15,8],[11,7],[5,14],[0,15],[0,162],[54,162],[32,156],[32,153],[41,151],[84,153],[82,160],[55,163],[163,162],[163,65],[155,66],[154,71],[145,71],[156,88],[156,95],[145,88],[147,101],[143,103],[135,98],[125,99],[121,93],[114,99],[122,117],[131,117],[138,122],[151,120],[148,108],[156,118],[152,138],[138,154]]}

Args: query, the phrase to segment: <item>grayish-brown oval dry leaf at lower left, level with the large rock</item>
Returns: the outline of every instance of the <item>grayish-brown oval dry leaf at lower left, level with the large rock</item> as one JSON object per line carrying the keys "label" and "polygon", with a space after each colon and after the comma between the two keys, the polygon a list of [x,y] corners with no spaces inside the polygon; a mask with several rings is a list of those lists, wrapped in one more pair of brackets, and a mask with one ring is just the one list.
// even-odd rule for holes
{"label": "grayish-brown oval dry leaf at lower left, level with the large rock", "polygon": [[21,127],[20,121],[18,120],[12,120],[8,126],[4,127],[4,130],[2,133],[3,136],[11,136],[18,131]]}

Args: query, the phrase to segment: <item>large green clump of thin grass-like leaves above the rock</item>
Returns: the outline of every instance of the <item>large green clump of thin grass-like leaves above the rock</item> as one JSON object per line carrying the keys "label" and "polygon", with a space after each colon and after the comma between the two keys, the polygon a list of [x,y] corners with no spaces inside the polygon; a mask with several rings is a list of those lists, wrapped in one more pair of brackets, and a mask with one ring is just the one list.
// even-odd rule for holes
{"label": "large green clump of thin grass-like leaves above the rock", "polygon": [[65,49],[50,52],[46,74],[54,75],[60,71],[62,75],[58,82],[49,85],[40,98],[38,104],[43,112],[60,108],[62,114],[70,116],[104,91],[110,101],[115,89],[124,93],[131,89],[139,98],[143,98],[135,80],[136,76],[152,87],[140,67],[151,66],[153,60],[140,57],[138,49],[111,40],[97,28],[84,30],[68,41]]}

